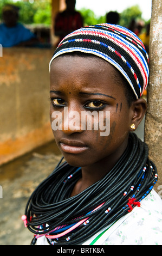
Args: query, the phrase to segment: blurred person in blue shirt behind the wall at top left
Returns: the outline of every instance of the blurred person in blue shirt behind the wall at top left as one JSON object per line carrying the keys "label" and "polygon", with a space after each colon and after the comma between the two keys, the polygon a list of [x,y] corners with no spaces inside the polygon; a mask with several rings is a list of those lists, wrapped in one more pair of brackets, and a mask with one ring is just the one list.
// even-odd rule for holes
{"label": "blurred person in blue shirt behind the wall at top left", "polygon": [[19,8],[11,4],[2,10],[0,44],[3,47],[32,46],[38,41],[35,34],[18,22],[18,11]]}

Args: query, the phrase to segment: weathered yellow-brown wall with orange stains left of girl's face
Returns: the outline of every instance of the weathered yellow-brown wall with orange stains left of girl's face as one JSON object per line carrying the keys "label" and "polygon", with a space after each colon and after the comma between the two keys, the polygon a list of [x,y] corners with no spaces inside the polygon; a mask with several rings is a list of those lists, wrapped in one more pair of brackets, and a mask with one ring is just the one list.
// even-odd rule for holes
{"label": "weathered yellow-brown wall with orange stains left of girl's face", "polygon": [[0,164],[53,139],[49,60],[53,50],[3,48],[0,57]]}

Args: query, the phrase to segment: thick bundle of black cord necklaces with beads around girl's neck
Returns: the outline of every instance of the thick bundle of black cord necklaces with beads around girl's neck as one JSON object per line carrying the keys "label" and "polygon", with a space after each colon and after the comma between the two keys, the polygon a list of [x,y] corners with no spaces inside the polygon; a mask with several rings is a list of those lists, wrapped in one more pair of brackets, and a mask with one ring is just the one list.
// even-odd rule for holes
{"label": "thick bundle of black cord necklaces with beads around girl's neck", "polygon": [[31,244],[45,235],[50,245],[81,245],[140,206],[157,182],[147,145],[134,133],[111,172],[74,197],[70,194],[82,176],[81,168],[61,162],[28,200],[26,225],[35,234]]}

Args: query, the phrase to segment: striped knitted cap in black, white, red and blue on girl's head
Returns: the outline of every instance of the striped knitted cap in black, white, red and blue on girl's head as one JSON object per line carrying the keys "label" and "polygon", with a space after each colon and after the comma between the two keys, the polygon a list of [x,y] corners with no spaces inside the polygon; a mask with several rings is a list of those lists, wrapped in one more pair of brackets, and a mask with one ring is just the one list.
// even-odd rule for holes
{"label": "striped knitted cap in black, white, red and blue on girl's head", "polygon": [[85,52],[111,63],[126,78],[137,99],[148,83],[148,54],[132,31],[119,25],[103,23],[77,29],[67,35],[56,48],[49,63],[61,54]]}

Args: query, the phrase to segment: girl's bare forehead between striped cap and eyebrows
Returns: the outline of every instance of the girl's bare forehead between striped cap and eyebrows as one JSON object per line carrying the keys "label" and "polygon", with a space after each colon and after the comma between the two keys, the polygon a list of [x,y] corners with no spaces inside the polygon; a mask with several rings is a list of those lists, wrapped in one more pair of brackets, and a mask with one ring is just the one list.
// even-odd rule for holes
{"label": "girl's bare forehead between striped cap and eyebrows", "polygon": [[115,89],[119,85],[123,87],[119,71],[106,60],[92,54],[63,54],[53,60],[50,67],[50,84],[61,84],[67,80],[70,80],[69,83],[72,80],[80,81],[82,86],[84,83],[92,86],[94,84],[93,89],[101,88],[101,84],[105,84],[106,88]]}

